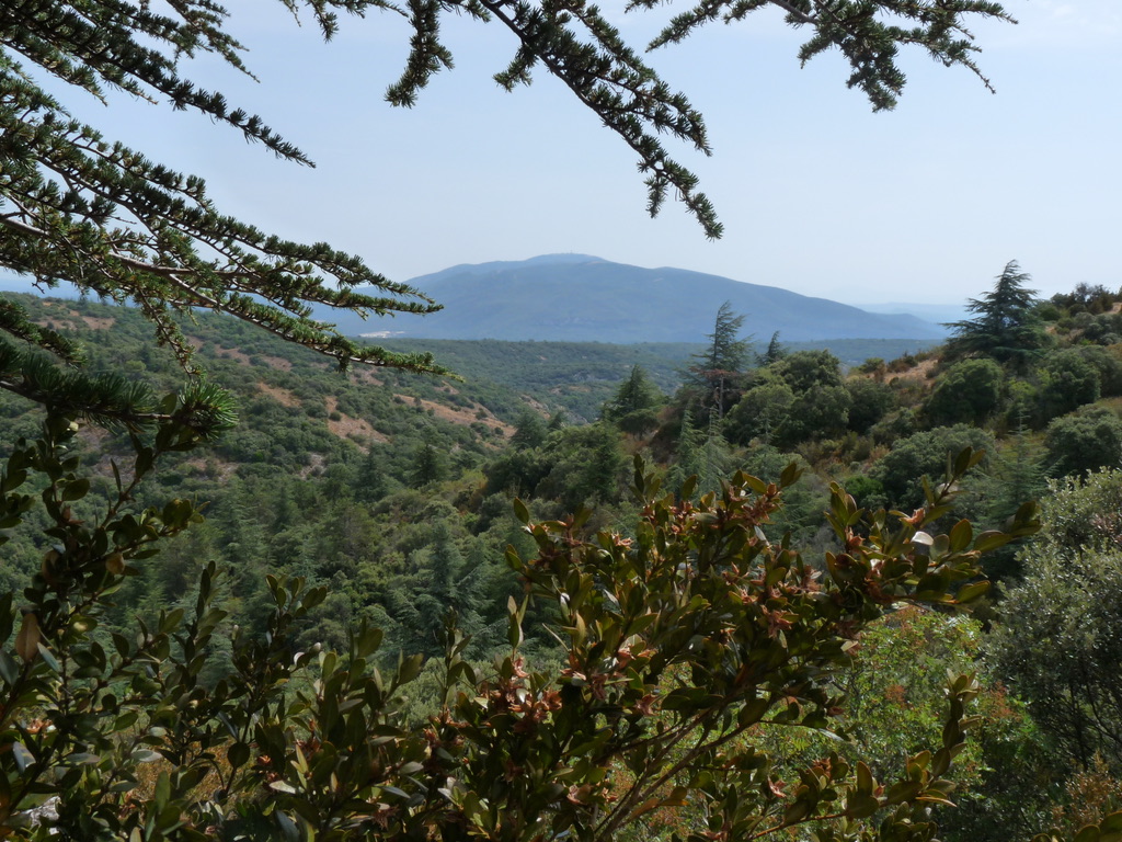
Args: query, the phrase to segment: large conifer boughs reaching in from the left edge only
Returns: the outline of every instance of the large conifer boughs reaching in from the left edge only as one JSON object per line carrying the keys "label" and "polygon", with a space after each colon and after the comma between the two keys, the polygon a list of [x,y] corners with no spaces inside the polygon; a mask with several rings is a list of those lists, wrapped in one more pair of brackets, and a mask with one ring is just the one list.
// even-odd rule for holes
{"label": "large conifer boughs reaching in from the left edge only", "polygon": [[[309,6],[330,35],[335,28],[331,7],[347,3]],[[364,315],[438,309],[415,290],[324,244],[285,241],[222,214],[201,179],[113,143],[67,112],[64,94],[75,90],[99,99],[105,88],[154,101],[167,98],[173,107],[201,111],[283,158],[310,163],[260,118],[181,75],[181,60],[201,53],[246,70],[241,45],[222,28],[224,17],[223,9],[197,0],[177,4],[171,15],[146,3],[81,11],[59,2],[4,7],[0,266],[30,274],[44,286],[70,281],[84,292],[134,301],[184,363],[191,347],[180,332],[180,314],[197,308],[236,315],[327,354],[340,366],[360,361],[433,369],[431,357],[361,347],[309,318],[313,304]],[[54,84],[40,85],[36,76],[43,74]],[[375,293],[353,292],[358,285],[374,286]],[[37,328],[7,301],[0,312],[8,333],[75,358],[68,339]]]}

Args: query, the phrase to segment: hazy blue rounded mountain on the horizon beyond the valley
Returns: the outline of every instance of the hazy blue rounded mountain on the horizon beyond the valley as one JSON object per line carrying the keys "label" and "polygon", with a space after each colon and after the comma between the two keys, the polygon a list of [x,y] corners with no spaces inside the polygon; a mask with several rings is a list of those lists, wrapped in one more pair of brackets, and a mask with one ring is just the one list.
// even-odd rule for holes
{"label": "hazy blue rounded mountain on the horizon beyond the valley", "polygon": [[647,269],[589,255],[460,265],[413,278],[444,310],[362,322],[333,313],[346,333],[425,339],[572,342],[699,342],[730,301],[745,333],[767,341],[939,340],[938,324],[909,314],[874,314],[826,299],[687,269]]}

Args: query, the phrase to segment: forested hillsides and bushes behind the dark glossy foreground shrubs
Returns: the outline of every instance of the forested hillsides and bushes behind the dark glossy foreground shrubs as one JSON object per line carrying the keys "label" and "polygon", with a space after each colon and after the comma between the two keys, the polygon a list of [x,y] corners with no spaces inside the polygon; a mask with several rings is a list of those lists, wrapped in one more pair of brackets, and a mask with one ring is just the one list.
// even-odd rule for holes
{"label": "forested hillsides and bushes behind the dark glossy foreground shrubs", "polygon": [[[229,318],[200,318],[186,337],[210,377],[237,396],[238,425],[136,492],[202,504],[205,522],[141,562],[145,575],[126,582],[102,622],[112,630],[134,614],[190,610],[199,593],[192,583],[217,561],[228,570],[212,597],[228,613],[219,630],[264,633],[273,604],[267,576],[303,577],[327,591],[296,622],[297,643],[346,648],[364,623],[381,629],[384,658],[425,659],[404,708],[421,720],[439,705],[451,612],[467,635],[460,656],[479,668],[507,646],[507,603],[521,598],[526,575],[512,569],[507,548],[535,551],[516,496],[536,519],[587,507],[579,536],[626,536],[637,513],[628,492],[634,455],[670,488],[696,476],[687,500],[699,505],[736,470],[780,482],[793,463],[802,477],[761,528],[771,540],[789,534],[808,559],[830,558],[836,538],[822,512],[831,482],[843,482],[859,506],[911,512],[939,495],[932,489],[948,459],[974,448],[984,459],[928,529],[959,519],[978,531],[1001,528],[1022,503],[1045,497],[1042,537],[988,555],[985,570],[1005,589],[980,603],[976,619],[912,608],[858,639],[862,656],[837,678],[852,698],[839,724],[852,740],[846,752],[854,762],[880,758],[879,779],[900,774],[899,758],[942,727],[941,676],[975,671],[983,724],[959,760],[959,808],[939,812],[942,839],[1028,838],[1057,822],[1074,829],[1122,796],[1112,736],[1122,713],[1107,703],[1118,681],[1104,671],[1112,656],[1103,649],[1113,646],[1109,630],[1122,598],[1122,591],[1111,596],[1122,576],[1114,552],[1122,539],[1109,514],[1119,506],[1107,502],[1122,495],[1122,474],[1113,470],[1122,460],[1122,298],[1101,287],[1050,301],[1024,292],[1011,265],[946,346],[848,372],[827,350],[748,344],[726,308],[708,341],[678,348],[696,348],[691,357],[672,363],[666,348],[634,349],[660,373],[659,385],[684,377],[665,391],[609,346],[449,344],[454,353],[444,361],[463,364],[462,381],[347,376]],[[21,303],[33,321],[84,340],[92,372],[125,372],[157,388],[176,382],[172,359],[150,348],[135,310]],[[544,367],[532,365],[535,355]],[[613,370],[627,373],[608,381]],[[592,381],[609,384],[596,412],[578,404],[587,412],[579,419],[546,408],[544,399],[561,405],[572,399],[559,396],[565,390]],[[35,434],[26,402],[8,396],[3,412],[6,446]],[[109,465],[127,457],[126,438],[82,438],[83,461],[101,478],[74,516],[92,515],[101,505],[93,501],[111,496]],[[43,551],[29,533],[13,536],[4,588],[24,587]],[[1061,579],[1057,566],[1069,571]],[[535,611],[544,608],[531,607],[521,651],[545,667],[557,655],[542,623],[557,619]],[[1078,637],[1075,617],[1102,634]],[[1075,637],[1061,665],[1046,641],[1065,634]],[[234,657],[221,633],[209,646],[203,681]],[[791,763],[836,750],[817,738],[785,740],[773,748]],[[675,821],[695,820],[687,812]]]}

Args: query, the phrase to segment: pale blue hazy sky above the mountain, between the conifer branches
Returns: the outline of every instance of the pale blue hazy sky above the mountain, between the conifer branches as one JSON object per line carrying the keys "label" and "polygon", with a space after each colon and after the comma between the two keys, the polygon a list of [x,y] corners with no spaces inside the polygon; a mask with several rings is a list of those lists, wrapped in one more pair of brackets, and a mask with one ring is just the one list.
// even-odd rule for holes
{"label": "pale blue hazy sky above the mountain, between the conifer branches", "polygon": [[[706,116],[711,157],[666,145],[716,204],[718,241],[672,201],[652,220],[631,150],[548,74],[498,89],[491,75],[515,44],[497,25],[449,18],[456,68],[398,109],[383,94],[407,51],[403,19],[348,18],[323,44],[275,0],[230,6],[259,81],[213,60],[188,75],[260,115],[315,168],[166,106],[114,98],[75,112],[204,176],[224,212],[325,240],[395,281],[576,251],[853,304],[962,303],[1012,259],[1045,295],[1122,285],[1118,0],[1009,0],[1017,26],[973,27],[996,94],[966,68],[904,53],[909,83],[891,112],[846,89],[836,54],[800,68],[804,36],[771,10],[651,54]],[[622,8],[605,3],[634,44],[680,11]]]}

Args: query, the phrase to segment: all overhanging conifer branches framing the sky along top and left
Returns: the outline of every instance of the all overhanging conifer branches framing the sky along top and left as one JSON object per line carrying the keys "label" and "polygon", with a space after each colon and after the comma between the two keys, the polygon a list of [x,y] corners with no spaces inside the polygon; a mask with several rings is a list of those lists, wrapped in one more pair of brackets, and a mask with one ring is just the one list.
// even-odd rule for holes
{"label": "all overhanging conifer branches framing the sky along top and left", "polygon": [[[837,47],[854,68],[848,84],[865,91],[874,109],[891,108],[903,88],[895,64],[899,45],[920,46],[981,76],[963,18],[1010,19],[988,0],[707,0],[674,18],[652,47],[681,40],[721,15],[737,19],[769,4],[784,9],[792,26],[809,28],[802,61]],[[671,159],[660,140],[669,135],[708,154],[701,115],[623,42],[596,7],[542,2],[515,9],[499,0],[420,2],[407,9],[383,0],[285,0],[285,6],[294,15],[305,6],[327,38],[339,28],[340,10],[406,16],[415,36],[404,73],[386,94],[396,106],[413,104],[433,74],[451,66],[439,39],[441,15],[497,21],[519,44],[496,75],[499,84],[526,84],[533,68],[544,66],[638,155],[652,213],[673,191],[708,236],[720,235],[696,176]],[[183,75],[182,60],[200,54],[249,73],[243,46],[226,29],[227,17],[211,0],[177,0],[158,10],[147,0],[0,3],[0,267],[29,274],[44,286],[70,281],[98,295],[135,302],[154,321],[160,342],[185,364],[191,349],[178,319],[192,309],[210,309],[315,348],[341,366],[358,361],[432,369],[425,355],[360,346],[310,315],[315,304],[378,315],[431,312],[435,304],[424,295],[325,244],[286,241],[222,213],[201,179],[114,141],[67,111],[70,92],[101,98],[112,88],[151,101],[167,99],[174,108],[199,111],[241,131],[282,158],[310,164],[261,118]],[[40,76],[53,77],[52,83],[43,84]],[[358,294],[358,285],[377,292]],[[31,323],[4,301],[0,329],[66,361],[81,357],[71,339]]]}

